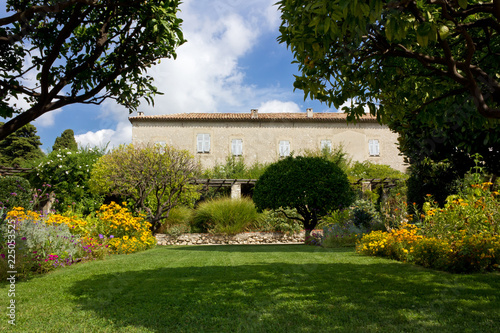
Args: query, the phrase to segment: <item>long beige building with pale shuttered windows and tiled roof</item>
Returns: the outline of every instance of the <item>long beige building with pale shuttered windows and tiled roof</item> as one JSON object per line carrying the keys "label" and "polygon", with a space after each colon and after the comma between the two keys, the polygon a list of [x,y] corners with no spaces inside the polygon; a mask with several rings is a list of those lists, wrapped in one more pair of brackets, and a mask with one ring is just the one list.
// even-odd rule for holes
{"label": "long beige building with pale shuttered windows and tiled roof", "polygon": [[190,151],[204,168],[223,164],[230,155],[250,165],[275,162],[304,150],[342,144],[353,161],[368,160],[404,171],[396,133],[364,116],[347,123],[344,113],[179,113],[129,117],[132,143],[169,144]]}

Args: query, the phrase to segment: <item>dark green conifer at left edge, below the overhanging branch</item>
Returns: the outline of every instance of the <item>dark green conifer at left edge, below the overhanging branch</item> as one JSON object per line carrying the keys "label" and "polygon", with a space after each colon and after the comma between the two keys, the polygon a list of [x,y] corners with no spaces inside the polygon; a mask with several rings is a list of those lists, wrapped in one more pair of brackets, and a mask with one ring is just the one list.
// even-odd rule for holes
{"label": "dark green conifer at left edge, below the overhanging branch", "polygon": [[[0,122],[0,126],[3,123]],[[25,166],[44,156],[36,127],[27,124],[0,141],[0,165]]]}

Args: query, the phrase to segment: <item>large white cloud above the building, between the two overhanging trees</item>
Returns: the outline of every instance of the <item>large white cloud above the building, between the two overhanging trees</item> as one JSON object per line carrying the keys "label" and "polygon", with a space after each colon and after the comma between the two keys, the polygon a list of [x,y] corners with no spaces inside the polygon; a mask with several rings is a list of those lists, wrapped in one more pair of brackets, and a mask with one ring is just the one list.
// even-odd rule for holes
{"label": "large white cloud above the building, between the two overhanging trees", "polygon": [[141,110],[238,112],[270,99],[266,95],[273,89],[245,84],[245,69],[238,62],[262,34],[277,30],[279,14],[273,4],[269,0],[183,3],[179,16],[187,43],[177,50],[176,60],[166,59],[148,73],[164,95],[156,96],[154,107],[144,103]]}

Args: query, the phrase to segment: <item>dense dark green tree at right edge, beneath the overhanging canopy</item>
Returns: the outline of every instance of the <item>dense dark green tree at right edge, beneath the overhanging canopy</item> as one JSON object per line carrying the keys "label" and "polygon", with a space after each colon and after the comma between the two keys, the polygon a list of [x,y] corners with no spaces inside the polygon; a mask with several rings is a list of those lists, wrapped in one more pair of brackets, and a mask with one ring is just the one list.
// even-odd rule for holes
{"label": "dense dark green tree at right edge, beneath the overhanging canopy", "polygon": [[500,123],[477,114],[466,97],[387,120],[399,133],[399,149],[412,165],[446,162],[462,177],[475,165],[473,156],[480,154],[486,171],[498,174]]}

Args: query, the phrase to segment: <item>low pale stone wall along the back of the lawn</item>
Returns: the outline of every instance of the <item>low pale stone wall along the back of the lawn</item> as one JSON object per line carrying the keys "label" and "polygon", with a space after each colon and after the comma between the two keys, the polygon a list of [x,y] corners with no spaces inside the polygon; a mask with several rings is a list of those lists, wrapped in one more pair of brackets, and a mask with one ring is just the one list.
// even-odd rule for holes
{"label": "low pale stone wall along the back of the lawn", "polygon": [[300,244],[304,243],[305,232],[292,235],[280,232],[245,232],[236,235],[181,234],[177,237],[156,234],[155,237],[158,245]]}

